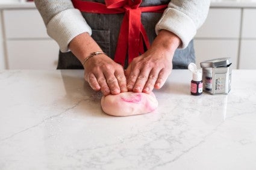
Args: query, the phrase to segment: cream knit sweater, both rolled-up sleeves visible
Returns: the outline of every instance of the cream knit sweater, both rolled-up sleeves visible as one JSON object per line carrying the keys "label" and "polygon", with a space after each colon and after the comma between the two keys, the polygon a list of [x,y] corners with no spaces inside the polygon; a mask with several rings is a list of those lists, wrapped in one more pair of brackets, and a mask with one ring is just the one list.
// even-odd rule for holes
{"label": "cream knit sweater, both rolled-up sleeves visible", "polygon": [[[67,52],[69,42],[92,29],[71,0],[34,0],[43,17],[48,35],[57,41],[61,52]],[[145,0],[146,1],[146,0]],[[189,41],[207,17],[210,0],[172,0],[155,26],[155,31],[166,29],[180,37],[187,47]]]}

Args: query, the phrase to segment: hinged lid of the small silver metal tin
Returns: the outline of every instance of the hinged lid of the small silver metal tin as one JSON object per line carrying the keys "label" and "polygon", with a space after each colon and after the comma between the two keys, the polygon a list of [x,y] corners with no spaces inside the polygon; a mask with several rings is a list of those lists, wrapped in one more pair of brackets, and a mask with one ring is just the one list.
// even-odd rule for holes
{"label": "hinged lid of the small silver metal tin", "polygon": [[216,58],[200,62],[202,68],[229,67],[231,64],[230,58]]}

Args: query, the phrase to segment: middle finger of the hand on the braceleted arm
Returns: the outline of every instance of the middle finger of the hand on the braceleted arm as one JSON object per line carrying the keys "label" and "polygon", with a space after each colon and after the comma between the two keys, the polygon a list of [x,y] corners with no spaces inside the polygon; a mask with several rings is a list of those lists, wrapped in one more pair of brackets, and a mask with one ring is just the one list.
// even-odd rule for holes
{"label": "middle finger of the hand on the braceleted arm", "polygon": [[117,82],[116,76],[114,76],[114,74],[110,71],[105,72],[104,75],[107,80],[107,85],[110,89],[110,93],[119,94],[120,88],[119,88],[119,84]]}

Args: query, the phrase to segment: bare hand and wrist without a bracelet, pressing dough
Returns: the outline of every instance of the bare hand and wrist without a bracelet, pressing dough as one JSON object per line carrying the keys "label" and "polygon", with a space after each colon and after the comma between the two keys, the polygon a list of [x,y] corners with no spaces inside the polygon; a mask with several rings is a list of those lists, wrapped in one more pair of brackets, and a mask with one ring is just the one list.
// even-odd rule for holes
{"label": "bare hand and wrist without a bracelet, pressing dough", "polygon": [[151,47],[133,59],[125,71],[128,91],[150,93],[163,87],[172,71],[172,58],[181,40],[172,32],[161,30]]}

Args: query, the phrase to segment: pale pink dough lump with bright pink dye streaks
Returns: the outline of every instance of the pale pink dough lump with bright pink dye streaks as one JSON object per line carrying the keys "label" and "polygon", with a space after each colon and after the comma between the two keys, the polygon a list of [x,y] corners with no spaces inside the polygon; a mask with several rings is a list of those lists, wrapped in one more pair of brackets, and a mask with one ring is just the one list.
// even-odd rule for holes
{"label": "pale pink dough lump with bright pink dye streaks", "polygon": [[101,99],[103,111],[116,117],[146,114],[154,111],[157,106],[158,102],[154,93],[124,92],[103,96]]}

